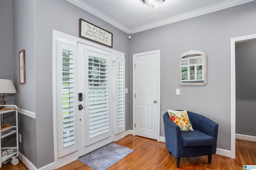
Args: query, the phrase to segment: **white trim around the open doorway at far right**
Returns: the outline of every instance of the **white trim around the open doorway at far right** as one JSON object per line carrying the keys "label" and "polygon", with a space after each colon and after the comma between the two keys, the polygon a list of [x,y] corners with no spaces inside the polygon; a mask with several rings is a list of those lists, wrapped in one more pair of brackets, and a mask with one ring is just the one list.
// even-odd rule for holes
{"label": "white trim around the open doorway at far right", "polygon": [[256,34],[235,37],[230,39],[230,71],[231,71],[231,155],[232,159],[236,158],[236,47],[235,43],[255,39]]}

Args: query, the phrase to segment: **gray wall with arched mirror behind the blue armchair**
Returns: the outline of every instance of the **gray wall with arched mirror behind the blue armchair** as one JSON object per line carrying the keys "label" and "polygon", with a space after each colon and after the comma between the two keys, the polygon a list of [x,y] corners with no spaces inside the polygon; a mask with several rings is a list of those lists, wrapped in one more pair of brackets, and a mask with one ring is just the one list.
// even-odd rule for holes
{"label": "gray wall with arched mirror behind the blue armchair", "polygon": [[[253,1],[134,33],[130,42],[130,68],[132,54],[160,49],[161,113],[167,109],[187,109],[216,121],[220,149],[230,150],[230,38],[256,33],[255,6]],[[178,59],[192,49],[207,55],[206,86],[179,85]],[[129,86],[132,87],[132,80]],[[175,94],[176,88],[180,88],[179,96]],[[160,136],[164,136],[162,119]]]}

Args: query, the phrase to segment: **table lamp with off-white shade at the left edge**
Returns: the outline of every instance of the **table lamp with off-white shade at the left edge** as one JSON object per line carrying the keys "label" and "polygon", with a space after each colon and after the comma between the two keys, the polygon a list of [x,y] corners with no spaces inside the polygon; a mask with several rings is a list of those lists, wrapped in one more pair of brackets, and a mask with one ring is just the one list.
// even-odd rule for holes
{"label": "table lamp with off-white shade at the left edge", "polygon": [[5,105],[4,94],[17,93],[12,80],[0,79],[0,105]]}

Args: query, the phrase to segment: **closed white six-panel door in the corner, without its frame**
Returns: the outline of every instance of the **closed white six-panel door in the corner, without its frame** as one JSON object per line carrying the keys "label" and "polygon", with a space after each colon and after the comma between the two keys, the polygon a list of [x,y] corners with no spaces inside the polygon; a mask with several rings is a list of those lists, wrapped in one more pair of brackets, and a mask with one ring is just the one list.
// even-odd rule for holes
{"label": "closed white six-panel door in the corner, without its frame", "polygon": [[134,133],[159,141],[160,51],[133,55]]}

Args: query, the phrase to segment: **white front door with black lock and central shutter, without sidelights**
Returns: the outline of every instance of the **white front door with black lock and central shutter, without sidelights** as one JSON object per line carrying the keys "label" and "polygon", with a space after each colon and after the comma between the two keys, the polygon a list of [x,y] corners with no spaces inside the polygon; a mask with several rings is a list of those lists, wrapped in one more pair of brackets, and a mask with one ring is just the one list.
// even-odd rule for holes
{"label": "white front door with black lock and central shutter, without sidelights", "polygon": [[78,156],[114,141],[112,53],[78,43]]}

